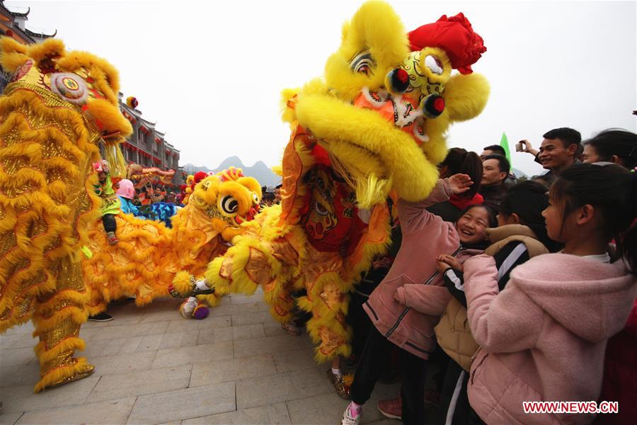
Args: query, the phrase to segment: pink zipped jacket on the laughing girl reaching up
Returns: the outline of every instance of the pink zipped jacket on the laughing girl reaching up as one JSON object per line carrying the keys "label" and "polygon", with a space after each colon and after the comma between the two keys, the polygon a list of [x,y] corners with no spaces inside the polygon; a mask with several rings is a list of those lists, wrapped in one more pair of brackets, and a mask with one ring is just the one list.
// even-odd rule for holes
{"label": "pink zipped jacket on the laughing girl reaching up", "polygon": [[[374,290],[363,308],[372,323],[389,341],[420,358],[427,358],[436,346],[434,327],[451,298],[436,270],[435,257],[453,254],[460,240],[453,223],[425,210],[449,199],[447,179],[439,180],[429,198],[418,203],[398,200],[398,216],[403,232],[401,249],[389,273]],[[405,285],[426,285],[419,293],[418,309],[394,300],[396,289]],[[403,296],[404,297],[404,296]]]}

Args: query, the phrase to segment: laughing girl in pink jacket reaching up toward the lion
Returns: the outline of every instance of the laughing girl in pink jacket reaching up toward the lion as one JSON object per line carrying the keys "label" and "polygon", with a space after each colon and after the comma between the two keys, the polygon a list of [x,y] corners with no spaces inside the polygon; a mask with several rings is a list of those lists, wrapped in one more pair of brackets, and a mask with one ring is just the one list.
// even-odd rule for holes
{"label": "laughing girl in pink jacket reaching up toward the lion", "polygon": [[[374,327],[369,331],[352,382],[352,403],[343,413],[343,425],[360,422],[361,406],[369,399],[380,378],[382,366],[389,361],[395,346],[399,348],[401,365],[406,371],[401,387],[403,423],[423,423],[425,361],[436,345],[433,328],[451,297],[436,269],[435,257],[453,254],[464,260],[466,256],[475,254],[460,243],[476,239],[483,241],[484,228],[489,225],[488,214],[483,208],[475,207],[471,210],[471,218],[461,218],[457,224],[459,230],[453,223],[442,221],[425,208],[448,200],[454,193],[464,193],[471,184],[469,176],[456,174],[439,180],[426,200],[418,203],[398,201],[403,233],[401,248],[389,273],[363,305]],[[410,288],[416,284],[426,285],[427,293],[412,293],[407,289],[404,293],[402,290],[397,293],[398,288]],[[415,295],[419,296],[418,300],[415,300]],[[422,312],[413,310],[411,302],[418,302]]]}

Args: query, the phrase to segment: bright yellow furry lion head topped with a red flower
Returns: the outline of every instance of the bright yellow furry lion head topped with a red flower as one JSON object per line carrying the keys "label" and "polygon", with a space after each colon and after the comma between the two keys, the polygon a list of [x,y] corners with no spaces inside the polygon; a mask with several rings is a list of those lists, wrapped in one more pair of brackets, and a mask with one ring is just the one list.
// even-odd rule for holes
{"label": "bright yellow furry lion head topped with a red flower", "polygon": [[449,126],[486,105],[488,82],[471,70],[485,51],[462,13],[407,32],[391,6],[368,1],[343,26],[324,77],[284,91],[283,118],[315,138],[358,205],[381,203],[392,189],[421,200],[447,154]]}

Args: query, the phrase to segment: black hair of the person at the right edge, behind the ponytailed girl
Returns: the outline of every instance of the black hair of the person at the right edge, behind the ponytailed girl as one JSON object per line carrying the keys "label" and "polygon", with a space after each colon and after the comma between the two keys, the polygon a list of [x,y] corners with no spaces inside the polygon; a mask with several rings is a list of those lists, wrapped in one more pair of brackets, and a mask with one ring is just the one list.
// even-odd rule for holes
{"label": "black hair of the person at the right edge, behind the ponytailed girl", "polygon": [[616,155],[627,169],[637,166],[637,135],[633,132],[610,128],[586,140],[584,145],[595,148],[599,161],[610,161]]}

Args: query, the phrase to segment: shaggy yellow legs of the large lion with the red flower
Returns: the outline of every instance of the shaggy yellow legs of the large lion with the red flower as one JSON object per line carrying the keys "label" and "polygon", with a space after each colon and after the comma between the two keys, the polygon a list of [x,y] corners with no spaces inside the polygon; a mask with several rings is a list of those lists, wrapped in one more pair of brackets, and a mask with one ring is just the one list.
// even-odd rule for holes
{"label": "shaggy yellow legs of the large lion with the red flower", "polygon": [[[252,294],[258,285],[270,314],[278,322],[294,319],[293,290],[306,288],[307,295],[298,304],[312,313],[307,324],[316,348],[316,360],[328,361],[335,356],[349,356],[351,330],[345,322],[348,313],[350,285],[340,276],[343,259],[336,252],[304,252],[294,246],[301,240],[299,230],[273,240],[258,239],[252,234],[236,237],[222,257],[214,259],[206,272],[205,283],[215,295]],[[299,254],[304,254],[300,273]],[[191,284],[176,285],[179,293],[191,293]]]}

